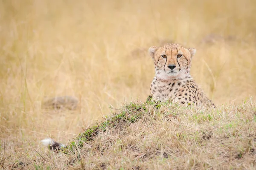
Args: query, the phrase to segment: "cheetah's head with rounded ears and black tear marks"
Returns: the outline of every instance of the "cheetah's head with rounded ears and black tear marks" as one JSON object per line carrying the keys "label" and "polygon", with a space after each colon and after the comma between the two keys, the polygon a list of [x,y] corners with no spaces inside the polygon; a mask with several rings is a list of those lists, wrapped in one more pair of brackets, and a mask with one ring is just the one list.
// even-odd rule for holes
{"label": "cheetah's head with rounded ears and black tear marks", "polygon": [[184,48],[179,44],[152,46],[148,49],[154,59],[156,76],[160,79],[183,79],[190,74],[191,59],[195,48]]}

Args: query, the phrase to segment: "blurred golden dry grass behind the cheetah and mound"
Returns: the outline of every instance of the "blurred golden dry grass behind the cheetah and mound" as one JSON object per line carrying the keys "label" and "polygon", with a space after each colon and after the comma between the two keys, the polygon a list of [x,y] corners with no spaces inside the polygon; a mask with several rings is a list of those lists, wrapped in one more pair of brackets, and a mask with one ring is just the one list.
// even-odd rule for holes
{"label": "blurred golden dry grass behind the cheetah and mound", "polygon": [[[148,48],[171,42],[197,49],[191,74],[217,106],[256,95],[255,0],[0,0],[0,150],[66,143],[110,105],[144,102]],[[79,107],[42,109],[54,96]]]}

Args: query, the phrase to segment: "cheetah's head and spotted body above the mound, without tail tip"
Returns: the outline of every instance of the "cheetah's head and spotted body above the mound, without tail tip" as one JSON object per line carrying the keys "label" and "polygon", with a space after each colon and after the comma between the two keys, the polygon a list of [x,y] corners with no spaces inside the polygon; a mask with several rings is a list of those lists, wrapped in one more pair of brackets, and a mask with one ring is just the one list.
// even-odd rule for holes
{"label": "cheetah's head and spotted body above the mound, without tail tip", "polygon": [[161,102],[171,101],[185,105],[215,107],[190,75],[195,48],[184,48],[175,43],[148,49],[154,60],[155,77],[150,96]]}

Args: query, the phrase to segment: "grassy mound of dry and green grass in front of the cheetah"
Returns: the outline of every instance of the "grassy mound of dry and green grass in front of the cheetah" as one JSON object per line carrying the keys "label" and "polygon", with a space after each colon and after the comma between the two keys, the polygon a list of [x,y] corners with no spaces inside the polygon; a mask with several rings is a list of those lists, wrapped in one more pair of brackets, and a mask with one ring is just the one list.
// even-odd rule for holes
{"label": "grassy mound of dry and green grass in front of the cheetah", "polygon": [[62,168],[254,169],[256,107],[131,102],[79,134],[60,154],[55,164],[62,162]]}

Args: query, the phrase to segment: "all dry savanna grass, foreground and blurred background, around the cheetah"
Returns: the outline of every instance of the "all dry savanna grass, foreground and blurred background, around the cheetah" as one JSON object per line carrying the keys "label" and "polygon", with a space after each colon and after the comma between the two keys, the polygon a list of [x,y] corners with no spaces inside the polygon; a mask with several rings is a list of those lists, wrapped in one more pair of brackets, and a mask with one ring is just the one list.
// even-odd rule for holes
{"label": "all dry savanna grass, foreground and blurred background, around the cheetah", "polygon": [[[144,103],[147,49],[167,42],[197,49],[191,74],[217,108]],[[256,166],[254,0],[0,0],[0,47],[2,168]],[[43,109],[54,96],[76,96],[79,107]],[[76,137],[110,105],[121,114],[112,126],[108,118],[90,140]],[[79,149],[52,153],[46,137],[76,138]]]}

